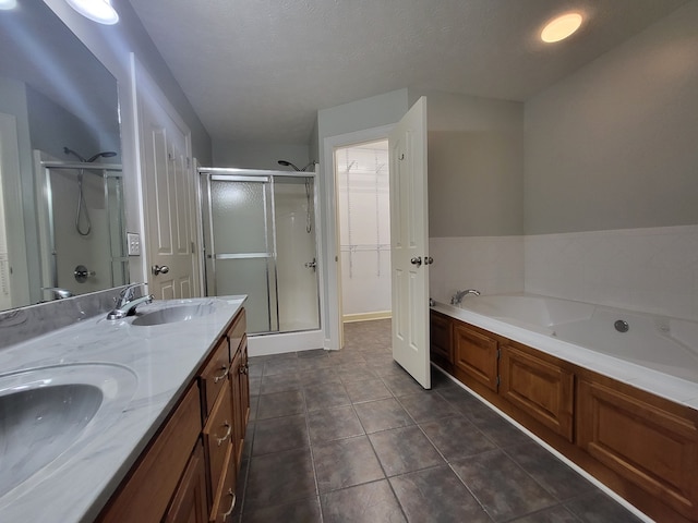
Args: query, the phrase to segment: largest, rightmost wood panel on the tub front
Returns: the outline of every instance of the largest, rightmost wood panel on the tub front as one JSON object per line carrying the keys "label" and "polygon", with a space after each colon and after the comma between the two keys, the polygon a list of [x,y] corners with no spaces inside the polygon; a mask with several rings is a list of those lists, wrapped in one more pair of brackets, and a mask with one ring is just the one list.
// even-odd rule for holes
{"label": "largest, rightmost wood panel on the tub front", "polygon": [[580,380],[578,445],[601,463],[698,520],[698,414],[611,381]]}

